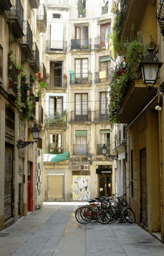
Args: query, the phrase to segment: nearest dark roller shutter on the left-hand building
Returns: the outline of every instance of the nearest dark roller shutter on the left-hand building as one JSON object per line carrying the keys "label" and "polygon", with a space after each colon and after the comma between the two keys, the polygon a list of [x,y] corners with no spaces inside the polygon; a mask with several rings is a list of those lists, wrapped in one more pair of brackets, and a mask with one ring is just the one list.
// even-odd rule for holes
{"label": "nearest dark roller shutter on the left-hand building", "polygon": [[13,147],[5,144],[4,216],[5,222],[12,218],[13,201]]}

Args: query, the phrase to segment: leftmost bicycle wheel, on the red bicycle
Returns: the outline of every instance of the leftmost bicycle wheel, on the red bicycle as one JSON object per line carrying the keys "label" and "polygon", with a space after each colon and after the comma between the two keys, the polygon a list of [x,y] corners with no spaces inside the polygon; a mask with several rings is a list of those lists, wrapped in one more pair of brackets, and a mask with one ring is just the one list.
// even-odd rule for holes
{"label": "leftmost bicycle wheel, on the red bicycle", "polygon": [[79,223],[87,224],[93,219],[93,212],[88,206],[82,206],[75,212],[75,218]]}

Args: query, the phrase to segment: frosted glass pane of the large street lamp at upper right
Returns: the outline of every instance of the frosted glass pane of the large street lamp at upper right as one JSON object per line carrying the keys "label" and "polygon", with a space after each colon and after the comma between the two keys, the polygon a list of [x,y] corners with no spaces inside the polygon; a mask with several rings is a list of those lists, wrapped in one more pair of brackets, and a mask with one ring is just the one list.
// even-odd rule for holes
{"label": "frosted glass pane of the large street lamp at upper right", "polygon": [[[158,74],[159,64],[143,64],[144,68],[141,68],[142,78],[144,79],[145,73],[145,82],[146,83],[154,83],[156,81],[156,77]],[[143,70],[144,69],[144,70]],[[144,73],[143,73],[144,71]]]}

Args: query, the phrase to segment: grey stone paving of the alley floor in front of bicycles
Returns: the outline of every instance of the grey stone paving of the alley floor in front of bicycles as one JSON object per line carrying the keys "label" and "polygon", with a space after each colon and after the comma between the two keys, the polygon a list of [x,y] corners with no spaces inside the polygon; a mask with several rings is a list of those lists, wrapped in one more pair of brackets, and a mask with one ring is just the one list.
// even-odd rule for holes
{"label": "grey stone paving of the alley floor in front of bicycles", "polygon": [[75,219],[77,207],[45,204],[1,230],[0,256],[164,255],[164,245],[136,223],[82,225]]}

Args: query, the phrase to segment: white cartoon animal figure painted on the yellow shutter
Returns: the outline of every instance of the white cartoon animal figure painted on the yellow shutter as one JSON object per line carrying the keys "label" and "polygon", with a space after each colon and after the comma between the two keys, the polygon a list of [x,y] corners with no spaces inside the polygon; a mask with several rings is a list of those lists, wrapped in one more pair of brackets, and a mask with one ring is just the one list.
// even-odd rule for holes
{"label": "white cartoon animal figure painted on the yellow shutter", "polygon": [[[86,176],[78,176],[75,180],[75,188],[73,191],[78,194],[78,201],[90,199],[90,181]],[[83,190],[83,193],[82,193]]]}

